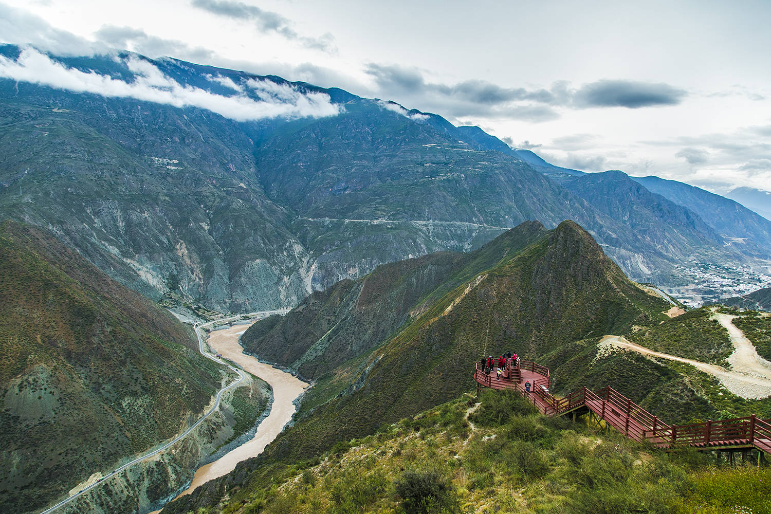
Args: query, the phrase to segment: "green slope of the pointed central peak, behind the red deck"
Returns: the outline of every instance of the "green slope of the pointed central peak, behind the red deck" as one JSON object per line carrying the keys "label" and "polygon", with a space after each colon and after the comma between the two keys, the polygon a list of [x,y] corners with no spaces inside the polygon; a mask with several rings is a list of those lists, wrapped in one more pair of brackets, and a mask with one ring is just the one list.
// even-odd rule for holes
{"label": "green slope of the pointed central peak, behind the red deck", "polygon": [[[305,437],[291,453],[314,454],[468,390],[470,365],[482,354],[513,350],[544,359],[572,341],[600,338],[635,320],[644,324],[666,310],[572,222],[500,259],[433,301],[374,352],[348,363],[353,375],[335,370],[332,375],[345,377],[338,387],[347,393],[303,419],[298,430]],[[547,364],[564,358],[547,358]],[[315,404],[314,395],[329,394],[327,384],[311,389],[308,405]]]}

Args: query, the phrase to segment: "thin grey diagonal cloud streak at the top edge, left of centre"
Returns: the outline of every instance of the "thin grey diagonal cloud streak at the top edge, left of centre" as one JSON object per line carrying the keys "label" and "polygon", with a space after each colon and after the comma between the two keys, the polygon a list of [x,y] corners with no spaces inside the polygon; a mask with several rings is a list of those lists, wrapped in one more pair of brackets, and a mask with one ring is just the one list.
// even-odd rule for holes
{"label": "thin grey diagonal cloud streak at the top edge, left of centre", "polygon": [[193,0],[194,7],[203,9],[214,15],[232,18],[237,21],[250,20],[263,32],[274,32],[282,35],[290,41],[297,41],[306,48],[322,50],[323,52],[337,53],[332,34],[325,34],[319,38],[309,38],[299,35],[291,28],[291,21],[277,12],[265,11],[256,5],[248,5],[243,2],[231,0]]}

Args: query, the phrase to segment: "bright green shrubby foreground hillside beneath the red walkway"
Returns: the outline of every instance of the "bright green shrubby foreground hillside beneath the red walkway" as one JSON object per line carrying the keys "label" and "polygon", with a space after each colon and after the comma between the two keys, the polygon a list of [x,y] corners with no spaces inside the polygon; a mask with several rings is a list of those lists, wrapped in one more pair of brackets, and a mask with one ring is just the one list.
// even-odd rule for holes
{"label": "bright green shrubby foreground hillside beneath the red walkway", "polygon": [[197,512],[409,512],[403,484],[415,477],[438,492],[428,512],[771,512],[768,468],[659,452],[537,415],[513,395],[480,400],[473,426],[465,415],[475,400],[463,395]]}

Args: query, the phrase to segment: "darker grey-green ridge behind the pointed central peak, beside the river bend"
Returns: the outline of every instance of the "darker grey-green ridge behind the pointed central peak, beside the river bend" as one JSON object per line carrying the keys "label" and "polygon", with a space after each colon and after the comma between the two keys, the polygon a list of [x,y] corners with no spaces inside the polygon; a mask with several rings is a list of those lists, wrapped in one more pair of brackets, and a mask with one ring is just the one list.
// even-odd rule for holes
{"label": "darker grey-green ridge behind the pointed central peak, beside the river bend", "polygon": [[261,360],[318,379],[368,353],[444,294],[545,232],[540,223],[526,222],[468,254],[439,252],[382,265],[358,281],[311,294],[283,317],[254,324],[241,344]]}

